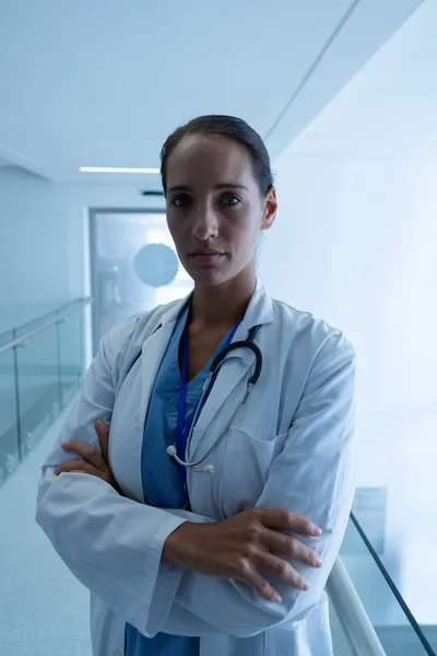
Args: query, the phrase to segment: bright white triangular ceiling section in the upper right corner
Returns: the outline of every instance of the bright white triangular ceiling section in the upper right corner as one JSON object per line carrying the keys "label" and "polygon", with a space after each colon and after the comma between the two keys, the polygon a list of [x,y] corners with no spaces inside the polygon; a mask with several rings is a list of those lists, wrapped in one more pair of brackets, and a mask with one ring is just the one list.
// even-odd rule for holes
{"label": "bright white triangular ceiling section in the upper right corner", "polygon": [[436,31],[437,0],[426,0],[287,152],[437,160]]}

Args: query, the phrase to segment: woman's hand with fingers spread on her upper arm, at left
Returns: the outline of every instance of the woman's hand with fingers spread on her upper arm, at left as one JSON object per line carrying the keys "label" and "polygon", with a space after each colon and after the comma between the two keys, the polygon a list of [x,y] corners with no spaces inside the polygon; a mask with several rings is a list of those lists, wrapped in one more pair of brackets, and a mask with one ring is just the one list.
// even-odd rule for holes
{"label": "woman's hand with fingers spread on her upper arm, at left", "polygon": [[121,494],[121,490],[118,487],[109,466],[109,426],[102,420],[97,420],[95,426],[101,443],[102,454],[99,454],[94,446],[87,442],[82,442],[81,440],[62,442],[61,446],[64,450],[78,454],[81,458],[61,462],[61,465],[58,465],[55,469],[55,473],[56,476],[63,471],[90,473],[91,476],[96,476],[106,483],[109,483],[109,485]]}

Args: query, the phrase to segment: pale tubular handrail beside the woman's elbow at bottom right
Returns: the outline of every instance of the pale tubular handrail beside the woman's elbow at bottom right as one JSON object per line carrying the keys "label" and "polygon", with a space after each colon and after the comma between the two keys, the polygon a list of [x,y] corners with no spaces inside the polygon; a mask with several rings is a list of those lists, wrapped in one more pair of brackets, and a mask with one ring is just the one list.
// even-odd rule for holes
{"label": "pale tubular handrail beside the woman's elbow at bottom right", "polygon": [[331,570],[326,590],[355,656],[387,656],[340,557]]}

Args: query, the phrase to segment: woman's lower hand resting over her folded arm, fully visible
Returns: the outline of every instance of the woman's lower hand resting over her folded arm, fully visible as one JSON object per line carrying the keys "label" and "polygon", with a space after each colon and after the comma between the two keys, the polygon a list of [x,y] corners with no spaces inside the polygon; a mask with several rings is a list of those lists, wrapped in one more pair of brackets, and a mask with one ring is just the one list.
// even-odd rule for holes
{"label": "woman's lower hand resting over her folded arm, fully visible", "polygon": [[224,522],[186,522],[170,534],[163,559],[210,576],[234,578],[250,585],[269,601],[281,596],[259,570],[275,574],[288,585],[306,590],[309,584],[282,553],[312,567],[320,567],[318,554],[295,537],[279,532],[293,530],[319,536],[321,530],[306,517],[282,509],[249,508]]}

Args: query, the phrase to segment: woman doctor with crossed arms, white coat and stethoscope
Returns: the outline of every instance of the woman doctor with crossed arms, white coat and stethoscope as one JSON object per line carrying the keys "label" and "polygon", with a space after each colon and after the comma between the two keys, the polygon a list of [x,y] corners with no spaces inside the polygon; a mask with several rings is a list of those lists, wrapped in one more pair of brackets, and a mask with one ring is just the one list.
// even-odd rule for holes
{"label": "woman doctor with crossed arms, white coat and stethoscope", "polygon": [[91,590],[94,656],[329,656],[354,350],[257,280],[276,195],[247,124],[179,128],[162,178],[194,291],[103,338],[37,522]]}

